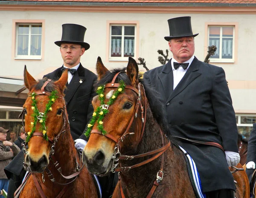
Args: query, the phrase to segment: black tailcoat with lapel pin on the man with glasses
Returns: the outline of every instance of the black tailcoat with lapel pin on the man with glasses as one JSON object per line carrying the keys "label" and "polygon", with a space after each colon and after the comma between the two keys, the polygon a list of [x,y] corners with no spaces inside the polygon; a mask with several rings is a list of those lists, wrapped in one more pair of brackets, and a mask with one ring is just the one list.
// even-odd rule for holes
{"label": "black tailcoat with lapel pin on the man with glasses", "polygon": [[[61,67],[62,68],[62,67]],[[52,73],[45,75],[52,80],[60,78],[61,68],[56,69]],[[65,101],[67,105],[67,114],[70,122],[70,131],[73,139],[78,139],[84,133],[87,122],[90,121],[93,114],[93,106],[91,100],[96,93],[93,83],[97,80],[97,76],[84,68],[81,63],[77,72],[73,75],[70,84],[67,85],[65,91]]]}

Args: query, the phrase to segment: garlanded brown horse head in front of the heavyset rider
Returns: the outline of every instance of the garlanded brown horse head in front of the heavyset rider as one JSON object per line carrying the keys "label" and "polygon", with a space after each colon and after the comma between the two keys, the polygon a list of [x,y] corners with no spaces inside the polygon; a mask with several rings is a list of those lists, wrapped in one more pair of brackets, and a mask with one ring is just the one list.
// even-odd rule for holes
{"label": "garlanded brown horse head in front of the heavyset rider", "polygon": [[[141,139],[145,92],[138,80],[137,62],[129,57],[125,69],[108,71],[98,57],[98,96],[93,98],[93,118],[87,127],[90,139],[83,162],[90,173],[105,174],[116,164],[115,156],[133,153]],[[113,171],[113,170],[112,170]]]}

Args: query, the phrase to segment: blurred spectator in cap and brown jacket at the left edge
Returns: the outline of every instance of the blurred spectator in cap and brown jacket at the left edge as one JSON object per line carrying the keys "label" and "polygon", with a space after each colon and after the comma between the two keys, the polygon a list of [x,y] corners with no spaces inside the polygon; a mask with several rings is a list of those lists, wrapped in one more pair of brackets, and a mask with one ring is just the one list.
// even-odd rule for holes
{"label": "blurred spectator in cap and brown jacket at the left edge", "polygon": [[[6,136],[9,130],[0,127],[0,190],[8,190],[9,180],[4,173],[4,167],[6,167],[11,161],[12,157],[16,156],[20,152],[20,148],[14,143],[6,141]],[[3,195],[0,195],[3,198]]]}

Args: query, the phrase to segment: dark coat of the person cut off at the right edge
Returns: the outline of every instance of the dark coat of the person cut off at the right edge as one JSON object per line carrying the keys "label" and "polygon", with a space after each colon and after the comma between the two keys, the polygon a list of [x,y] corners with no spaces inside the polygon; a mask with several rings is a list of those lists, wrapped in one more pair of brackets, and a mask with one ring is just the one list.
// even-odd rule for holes
{"label": "dark coat of the person cut off at the right edge", "polygon": [[[246,164],[249,161],[254,161],[256,163],[256,123],[253,123],[253,130],[250,133],[250,138],[248,141]],[[251,181],[254,171],[255,169],[246,169],[249,181]]]}

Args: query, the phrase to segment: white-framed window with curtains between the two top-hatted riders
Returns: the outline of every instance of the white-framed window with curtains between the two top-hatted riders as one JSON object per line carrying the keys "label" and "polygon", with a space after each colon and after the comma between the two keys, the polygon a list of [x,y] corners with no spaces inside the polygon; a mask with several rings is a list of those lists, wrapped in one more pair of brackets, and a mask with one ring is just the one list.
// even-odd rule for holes
{"label": "white-framed window with curtains between the two top-hatted riders", "polygon": [[128,60],[136,53],[136,25],[110,25],[109,59]]}

